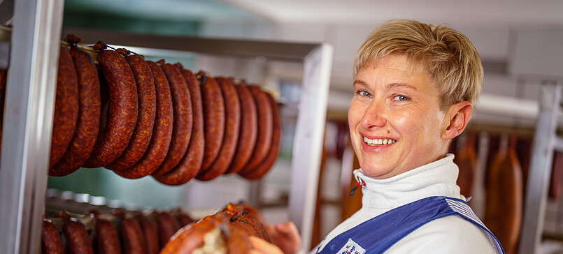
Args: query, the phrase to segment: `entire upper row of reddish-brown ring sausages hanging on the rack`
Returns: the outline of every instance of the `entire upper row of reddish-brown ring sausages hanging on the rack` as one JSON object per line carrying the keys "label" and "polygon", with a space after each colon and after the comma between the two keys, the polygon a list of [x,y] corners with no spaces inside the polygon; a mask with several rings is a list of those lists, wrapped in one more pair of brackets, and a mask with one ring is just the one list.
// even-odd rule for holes
{"label": "entire upper row of reddish-brown ring sausages hanging on the rack", "polygon": [[127,50],[92,55],[67,36],[61,46],[49,175],[106,167],[162,184],[225,173],[262,177],[276,161],[280,114],[257,86],[145,61]]}

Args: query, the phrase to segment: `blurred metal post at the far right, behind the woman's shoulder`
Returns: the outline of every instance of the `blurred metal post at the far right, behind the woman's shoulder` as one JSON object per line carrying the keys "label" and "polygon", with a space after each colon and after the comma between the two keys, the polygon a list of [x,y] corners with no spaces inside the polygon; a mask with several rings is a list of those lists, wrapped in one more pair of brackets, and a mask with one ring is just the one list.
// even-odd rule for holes
{"label": "blurred metal post at the far right, behind the woman's shoulder", "polygon": [[527,190],[525,195],[524,221],[520,235],[519,252],[538,253],[546,215],[548,186],[553,162],[553,150],[557,138],[557,114],[560,112],[562,85],[548,82],[540,88],[540,112],[532,144]]}

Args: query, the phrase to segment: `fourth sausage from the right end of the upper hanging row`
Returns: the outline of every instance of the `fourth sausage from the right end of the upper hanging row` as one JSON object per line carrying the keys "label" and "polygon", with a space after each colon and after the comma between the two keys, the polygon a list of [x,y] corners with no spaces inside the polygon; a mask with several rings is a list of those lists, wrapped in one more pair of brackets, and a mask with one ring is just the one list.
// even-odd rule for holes
{"label": "fourth sausage from the right end of the upper hanging row", "polygon": [[236,151],[238,133],[241,127],[241,101],[234,84],[225,77],[217,77],[215,80],[218,82],[225,99],[225,135],[223,135],[221,150],[215,158],[215,162],[207,170],[197,174],[196,179],[201,181],[215,179],[215,177],[227,171]]}

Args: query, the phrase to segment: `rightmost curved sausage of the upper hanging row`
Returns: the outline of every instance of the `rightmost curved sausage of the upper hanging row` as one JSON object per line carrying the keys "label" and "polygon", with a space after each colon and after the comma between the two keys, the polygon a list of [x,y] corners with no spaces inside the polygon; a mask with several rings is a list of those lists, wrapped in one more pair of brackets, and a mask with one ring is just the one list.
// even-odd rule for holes
{"label": "rightmost curved sausage of the upper hanging row", "polygon": [[278,159],[278,152],[280,151],[280,138],[281,138],[281,117],[280,112],[278,109],[278,103],[276,100],[270,95],[267,94],[268,100],[270,101],[270,105],[272,107],[272,117],[273,117],[273,133],[271,137],[271,147],[270,151],[268,152],[268,156],[260,163],[254,170],[250,171],[248,174],[241,174],[241,177],[246,179],[259,179],[266,174],[273,166],[273,163],[276,163]]}

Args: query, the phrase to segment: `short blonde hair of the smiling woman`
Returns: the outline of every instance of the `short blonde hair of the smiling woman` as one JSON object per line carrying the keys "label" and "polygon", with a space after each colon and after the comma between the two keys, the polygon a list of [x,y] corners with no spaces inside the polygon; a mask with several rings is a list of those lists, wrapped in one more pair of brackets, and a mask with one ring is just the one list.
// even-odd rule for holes
{"label": "short blonde hair of the smiling woman", "polygon": [[461,101],[477,103],[483,84],[483,65],[473,43],[455,29],[415,20],[391,20],[373,30],[359,47],[354,79],[366,63],[390,54],[420,63],[441,93],[440,108]]}

